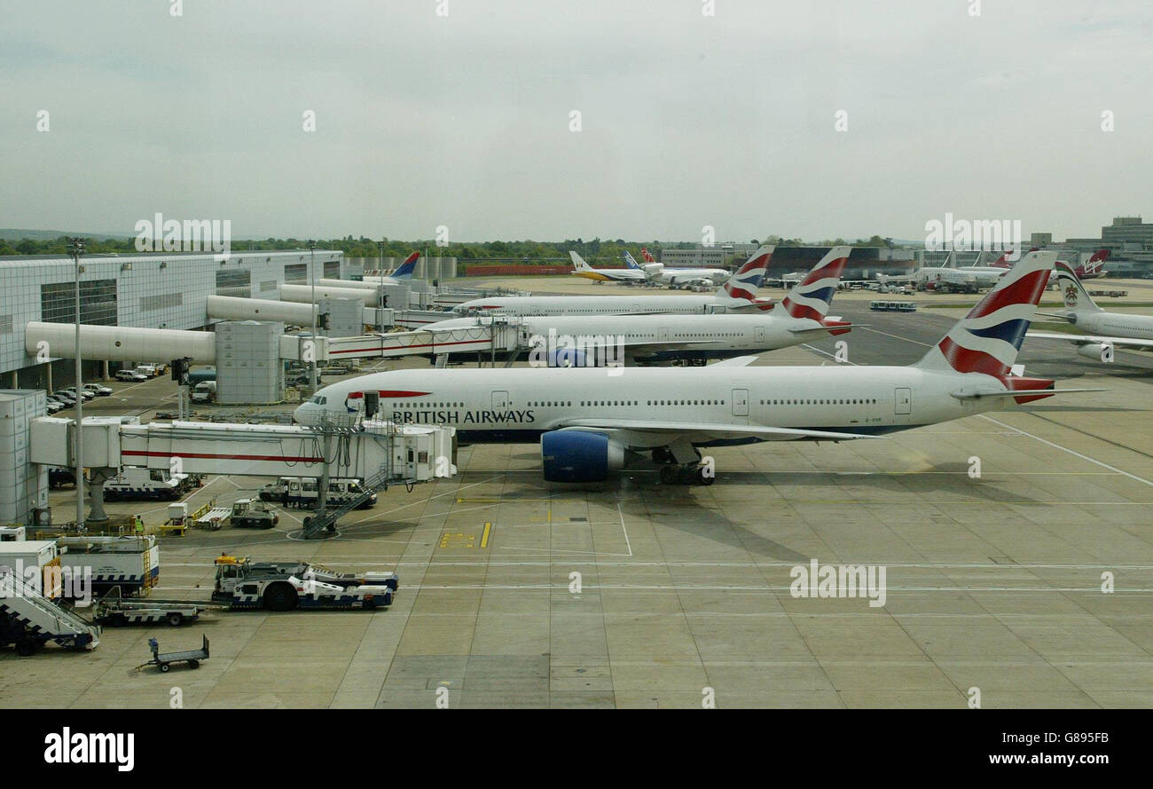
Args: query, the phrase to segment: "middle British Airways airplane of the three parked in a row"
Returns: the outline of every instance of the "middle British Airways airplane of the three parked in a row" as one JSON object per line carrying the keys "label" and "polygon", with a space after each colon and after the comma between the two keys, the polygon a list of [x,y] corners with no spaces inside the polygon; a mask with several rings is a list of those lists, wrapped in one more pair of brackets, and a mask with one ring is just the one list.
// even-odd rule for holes
{"label": "middle British Airways airplane of the three parked in a row", "polygon": [[[586,363],[587,354],[615,362],[684,360],[704,365],[708,359],[730,359],[800,345],[827,335],[844,335],[852,324],[827,316],[850,251],[851,247],[830,249],[783,301],[766,311],[545,315],[520,318],[519,331],[526,347],[530,347],[530,360],[540,356],[541,346],[547,345],[549,359],[556,353],[558,359],[567,358],[575,366]],[[481,322],[487,318],[452,318],[429,328],[470,329]]]}

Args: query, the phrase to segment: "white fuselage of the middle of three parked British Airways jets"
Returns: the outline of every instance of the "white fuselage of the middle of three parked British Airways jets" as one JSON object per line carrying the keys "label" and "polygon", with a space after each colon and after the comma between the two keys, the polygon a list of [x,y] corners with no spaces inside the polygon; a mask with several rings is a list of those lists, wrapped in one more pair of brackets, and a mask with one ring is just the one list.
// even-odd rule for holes
{"label": "white fuselage of the middle of three parked British Airways jets", "polygon": [[[688,353],[714,359],[775,351],[826,336],[824,332],[792,331],[820,328],[821,324],[787,314],[778,317],[775,315],[777,311],[782,310],[748,315],[527,316],[521,318],[521,333],[542,338],[555,335],[564,338],[568,347],[578,347],[580,338],[606,338],[604,344],[619,341],[626,355],[631,356]],[[476,325],[477,318],[469,317],[442,321],[429,328],[466,329]],[[570,339],[573,341],[568,343]]]}

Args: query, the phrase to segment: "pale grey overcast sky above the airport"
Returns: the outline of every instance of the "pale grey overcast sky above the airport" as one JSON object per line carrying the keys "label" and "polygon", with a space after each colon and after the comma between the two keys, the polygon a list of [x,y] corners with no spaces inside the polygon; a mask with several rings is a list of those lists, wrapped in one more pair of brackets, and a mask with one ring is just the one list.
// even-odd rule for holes
{"label": "pale grey overcast sky above the airport", "polygon": [[3,0],[0,226],[747,241],[920,239],[947,211],[1058,239],[1153,220],[1147,0],[182,5]]}

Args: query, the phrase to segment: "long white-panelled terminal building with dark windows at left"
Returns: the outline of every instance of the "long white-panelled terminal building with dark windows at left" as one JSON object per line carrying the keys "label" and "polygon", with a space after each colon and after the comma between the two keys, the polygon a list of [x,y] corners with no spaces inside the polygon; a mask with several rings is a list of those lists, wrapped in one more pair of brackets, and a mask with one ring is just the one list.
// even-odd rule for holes
{"label": "long white-panelled terminal building with dark windows at left", "polygon": [[[315,265],[315,272],[311,266]],[[211,295],[277,299],[282,285],[344,279],[339,250],[141,254],[81,257],[81,323],[142,329],[204,330]],[[61,255],[0,258],[0,386],[50,389],[71,385],[74,362],[51,347],[32,354],[29,322],[74,323],[76,266]],[[125,359],[125,366],[168,359]],[[116,367],[112,362],[113,368]],[[106,378],[107,361],[84,362],[88,381]]]}

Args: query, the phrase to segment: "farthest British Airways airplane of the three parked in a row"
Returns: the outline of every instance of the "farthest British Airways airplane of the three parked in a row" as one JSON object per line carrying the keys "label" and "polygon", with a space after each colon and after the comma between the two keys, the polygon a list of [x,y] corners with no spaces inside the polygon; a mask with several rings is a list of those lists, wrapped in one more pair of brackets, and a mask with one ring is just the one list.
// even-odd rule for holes
{"label": "farthest British Airways airplane of the three parked in a row", "polygon": [[645,315],[766,310],[774,301],[759,299],[756,290],[773,260],[773,249],[766,246],[753,253],[713,295],[497,296],[473,299],[457,305],[452,311],[457,315]]}

